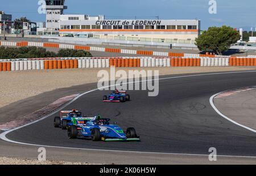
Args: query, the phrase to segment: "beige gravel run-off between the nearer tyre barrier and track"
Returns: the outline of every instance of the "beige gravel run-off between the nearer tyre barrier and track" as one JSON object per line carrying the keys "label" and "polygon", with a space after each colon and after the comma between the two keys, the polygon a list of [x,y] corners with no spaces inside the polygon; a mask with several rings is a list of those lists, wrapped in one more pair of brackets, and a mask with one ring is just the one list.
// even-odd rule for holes
{"label": "beige gravel run-off between the nearer tyre barrier and track", "polygon": [[[162,67],[162,68],[116,68],[115,70],[159,70],[159,75],[176,75],[199,72],[256,70],[256,67]],[[59,88],[96,83],[102,69],[70,69],[0,72],[0,108],[28,97]],[[110,68],[105,70],[110,71]]]}

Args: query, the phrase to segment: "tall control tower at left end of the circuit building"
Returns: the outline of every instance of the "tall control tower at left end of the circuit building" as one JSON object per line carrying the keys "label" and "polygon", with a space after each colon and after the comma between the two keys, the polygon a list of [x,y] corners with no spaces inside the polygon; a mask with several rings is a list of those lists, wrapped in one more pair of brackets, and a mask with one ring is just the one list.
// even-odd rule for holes
{"label": "tall control tower at left end of the circuit building", "polygon": [[63,14],[65,0],[45,0],[46,1],[46,29],[47,32],[57,32],[60,28],[60,15]]}

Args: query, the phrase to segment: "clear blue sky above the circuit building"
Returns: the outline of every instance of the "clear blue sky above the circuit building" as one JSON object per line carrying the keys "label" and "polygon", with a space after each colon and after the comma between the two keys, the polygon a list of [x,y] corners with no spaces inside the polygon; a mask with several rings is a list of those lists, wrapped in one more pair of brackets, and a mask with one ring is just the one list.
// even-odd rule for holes
{"label": "clear blue sky above the circuit building", "polygon": [[[216,1],[217,14],[209,13],[209,1]],[[0,10],[13,19],[26,16],[44,22],[38,13],[39,0],[0,0]],[[200,19],[201,29],[229,25],[250,30],[256,27],[255,0],[66,0],[65,14],[105,15],[106,19]]]}

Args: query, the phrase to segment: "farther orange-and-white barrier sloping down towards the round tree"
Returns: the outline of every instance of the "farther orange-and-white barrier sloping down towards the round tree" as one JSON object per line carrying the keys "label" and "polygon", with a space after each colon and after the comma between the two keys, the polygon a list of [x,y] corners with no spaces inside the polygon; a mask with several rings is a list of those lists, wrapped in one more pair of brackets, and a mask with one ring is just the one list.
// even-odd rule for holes
{"label": "farther orange-and-white barrier sloping down towards the round tree", "polygon": [[121,54],[134,54],[134,55],[152,55],[161,57],[216,57],[216,55],[208,54],[186,54],[186,53],[172,53],[172,52],[160,52],[160,51],[148,51],[148,50],[129,50],[129,49],[117,49],[117,48],[101,48],[95,46],[81,46],[81,45],[68,45],[68,44],[58,44],[52,42],[10,42],[10,41],[0,41],[0,46],[36,46],[44,48],[60,48],[60,49],[76,49],[76,50],[86,50],[86,51],[100,51],[109,53],[121,53]]}

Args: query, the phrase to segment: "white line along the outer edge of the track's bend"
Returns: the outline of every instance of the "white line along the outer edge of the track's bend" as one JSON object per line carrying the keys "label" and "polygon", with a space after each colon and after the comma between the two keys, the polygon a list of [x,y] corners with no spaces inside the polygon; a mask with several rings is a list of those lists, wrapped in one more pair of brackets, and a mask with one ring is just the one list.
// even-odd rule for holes
{"label": "white line along the outer edge of the track's bend", "polygon": [[[187,75],[187,76],[174,76],[174,77],[168,77],[168,78],[159,78],[159,79],[152,79],[152,80],[140,80],[140,81],[131,81],[128,83],[123,83],[123,84],[131,84],[131,83],[141,83],[141,82],[145,82],[145,81],[153,81],[153,80],[166,80],[166,79],[176,79],[176,78],[189,78],[189,77],[196,77],[196,76],[208,76],[208,75],[224,75],[224,74],[242,74],[242,73],[248,73],[248,72],[256,72],[256,71],[238,71],[238,72],[217,72],[217,73],[212,73],[212,74],[198,74],[198,75]],[[108,87],[112,87],[115,85],[109,85],[106,86],[104,88],[108,88]],[[2,132],[0,134],[0,139],[5,140],[7,142],[10,143],[15,143],[15,144],[22,144],[22,145],[31,145],[31,146],[37,146],[37,147],[49,147],[49,148],[62,148],[62,149],[78,149],[78,150],[84,150],[84,151],[105,151],[105,152],[123,152],[123,153],[145,153],[145,154],[175,154],[175,155],[185,155],[185,156],[207,156],[208,154],[190,154],[190,153],[159,153],[159,152],[138,152],[138,151],[115,151],[115,150],[104,150],[104,149],[88,149],[88,148],[72,148],[72,147],[59,147],[59,146],[51,146],[51,145],[38,145],[38,144],[29,144],[29,143],[20,143],[18,141],[14,141],[14,140],[10,140],[6,137],[7,134],[9,134],[10,132],[16,131],[20,128],[32,125],[36,122],[42,121],[43,119],[46,119],[50,116],[52,116],[53,114],[57,113],[58,111],[60,111],[61,109],[67,107],[68,105],[72,104],[72,102],[76,101],[78,98],[80,98],[81,96],[84,96],[88,93],[97,91],[97,89],[93,89],[91,91],[88,92],[84,92],[80,95],[78,95],[76,98],[74,98],[72,101],[68,102],[68,104],[65,104],[64,106],[61,106],[59,109],[56,109],[55,111],[53,111],[51,114],[46,115],[43,118],[40,118],[34,122],[31,123],[27,123],[26,125],[17,127],[17,128],[13,128],[11,130]],[[218,155],[219,157],[238,157],[238,158],[256,158],[256,156],[228,156],[228,155]]]}

